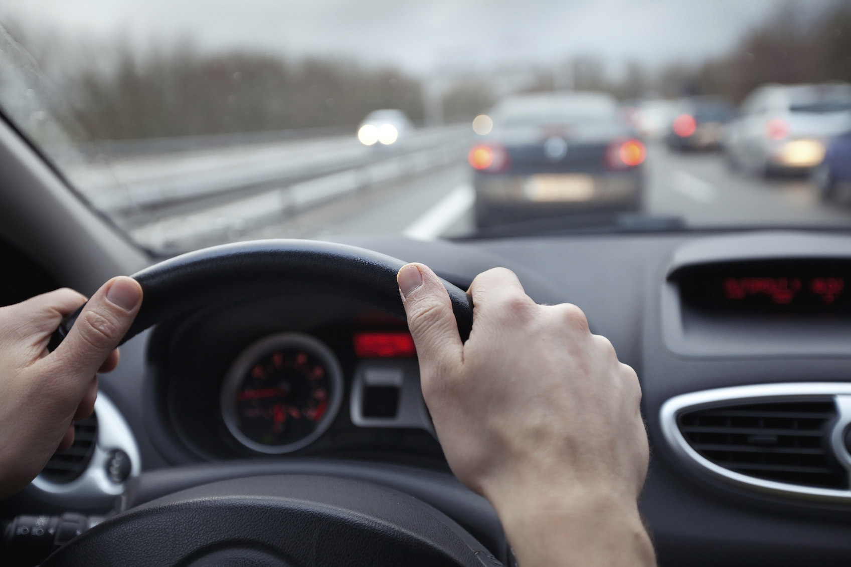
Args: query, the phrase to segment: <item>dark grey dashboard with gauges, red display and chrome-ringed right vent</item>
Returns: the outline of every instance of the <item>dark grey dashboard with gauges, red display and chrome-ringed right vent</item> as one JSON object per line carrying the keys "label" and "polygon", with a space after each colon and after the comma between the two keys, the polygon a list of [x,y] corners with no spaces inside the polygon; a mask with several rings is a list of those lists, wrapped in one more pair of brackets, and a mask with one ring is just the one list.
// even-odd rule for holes
{"label": "dark grey dashboard with gauges, red display and chrome-ringed right vent", "polygon": [[[652,459],[640,506],[660,564],[847,564],[851,237],[345,243],[424,262],[461,287],[505,266],[535,301],[583,309],[642,383]],[[107,477],[118,470],[111,451],[131,461],[117,486],[140,472],[228,462],[448,472],[405,322],[373,307],[319,292],[264,293],[174,318],[122,348],[101,392],[132,443],[95,444]],[[13,505],[65,505],[46,483]],[[112,506],[117,492],[89,497],[89,512]]]}

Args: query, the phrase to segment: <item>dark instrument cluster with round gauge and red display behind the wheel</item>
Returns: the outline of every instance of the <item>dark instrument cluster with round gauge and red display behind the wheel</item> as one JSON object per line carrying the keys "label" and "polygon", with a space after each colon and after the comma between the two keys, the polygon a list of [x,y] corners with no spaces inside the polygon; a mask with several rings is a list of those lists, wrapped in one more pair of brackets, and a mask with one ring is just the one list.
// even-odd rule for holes
{"label": "dark instrument cluster with round gauge and red display behind the wheel", "polygon": [[149,356],[174,464],[321,455],[447,467],[414,341],[385,312],[264,298],[159,325]]}

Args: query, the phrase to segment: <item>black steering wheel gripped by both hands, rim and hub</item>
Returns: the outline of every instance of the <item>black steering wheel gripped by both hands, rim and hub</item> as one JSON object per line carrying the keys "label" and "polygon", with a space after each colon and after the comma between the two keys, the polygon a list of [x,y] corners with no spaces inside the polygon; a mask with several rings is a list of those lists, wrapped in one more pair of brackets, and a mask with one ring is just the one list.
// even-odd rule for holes
{"label": "black steering wheel gripped by both hands, rim and hub", "polygon": [[[145,295],[122,343],[180,313],[282,290],[321,290],[404,318],[396,282],[404,264],[366,249],[306,240],[234,243],[180,255],[134,274]],[[466,339],[472,326],[471,298],[452,283],[443,285],[460,335]],[[82,307],[60,325],[52,348],[80,312]],[[297,473],[285,461],[265,465],[243,461],[242,467],[222,463],[143,473],[131,486],[139,489],[140,479],[149,475],[179,478],[176,484],[164,485],[183,490],[107,519],[61,547],[43,565],[482,567],[501,565],[491,551],[505,557],[505,547],[493,549],[490,541],[489,551],[426,503],[429,494],[444,490],[446,500],[445,490],[454,490],[450,500],[456,507],[469,502],[493,524],[495,514],[486,503],[482,512],[483,499],[458,492],[464,489],[452,478],[455,484],[447,489],[446,478],[427,475],[408,484],[398,478],[387,480],[404,475],[404,467],[396,467],[388,477],[387,467],[379,464],[343,465],[323,472],[330,465],[314,463],[301,469],[309,474]],[[398,490],[405,487],[411,487],[408,492],[417,498]],[[132,500],[133,495],[125,494],[125,503],[131,501],[132,506]]]}

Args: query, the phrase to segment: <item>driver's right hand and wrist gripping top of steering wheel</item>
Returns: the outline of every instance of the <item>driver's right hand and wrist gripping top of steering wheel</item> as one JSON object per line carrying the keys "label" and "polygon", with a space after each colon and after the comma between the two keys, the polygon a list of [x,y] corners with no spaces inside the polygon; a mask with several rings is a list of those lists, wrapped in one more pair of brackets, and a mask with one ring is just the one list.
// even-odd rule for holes
{"label": "driver's right hand and wrist gripping top of steering wheel", "polygon": [[641,388],[579,307],[537,305],[495,268],[470,287],[462,343],[434,272],[408,264],[397,281],[449,466],[493,504],[519,564],[654,564]]}

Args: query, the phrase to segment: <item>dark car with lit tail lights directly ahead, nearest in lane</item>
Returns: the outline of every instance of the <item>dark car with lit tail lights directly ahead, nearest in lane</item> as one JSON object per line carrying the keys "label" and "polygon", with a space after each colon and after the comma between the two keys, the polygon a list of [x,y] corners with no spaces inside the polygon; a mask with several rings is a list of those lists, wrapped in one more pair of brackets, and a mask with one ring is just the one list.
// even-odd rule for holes
{"label": "dark car with lit tail lights directly ahead, nearest in lane", "polygon": [[468,156],[480,228],[639,209],[646,150],[608,94],[512,96],[491,117]]}

